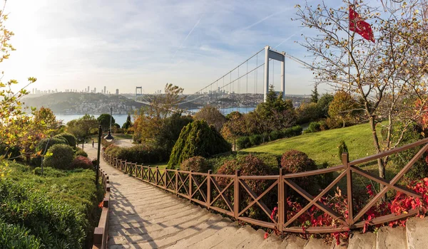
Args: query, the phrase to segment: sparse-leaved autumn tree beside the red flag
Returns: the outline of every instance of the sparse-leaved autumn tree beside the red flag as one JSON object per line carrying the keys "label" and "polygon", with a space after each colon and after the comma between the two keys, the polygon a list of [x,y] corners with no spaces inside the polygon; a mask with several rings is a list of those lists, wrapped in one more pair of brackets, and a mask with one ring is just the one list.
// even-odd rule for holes
{"label": "sparse-leaved autumn tree beside the red flag", "polygon": [[[317,33],[305,36],[301,45],[312,53],[309,67],[321,83],[358,95],[376,152],[397,147],[400,137],[392,139],[392,127],[403,124],[405,132],[427,106],[428,36],[421,2],[400,1],[372,7],[365,1],[351,6],[360,20],[370,23],[373,41],[350,31],[349,3],[326,6],[297,5],[297,21]],[[368,1],[367,1],[368,3]],[[405,99],[412,96],[412,102]],[[419,101],[419,106],[414,105]],[[396,115],[399,113],[400,115]],[[387,136],[380,140],[376,120],[384,117]],[[381,124],[382,125],[382,124]],[[387,157],[377,161],[379,176],[384,178]]]}

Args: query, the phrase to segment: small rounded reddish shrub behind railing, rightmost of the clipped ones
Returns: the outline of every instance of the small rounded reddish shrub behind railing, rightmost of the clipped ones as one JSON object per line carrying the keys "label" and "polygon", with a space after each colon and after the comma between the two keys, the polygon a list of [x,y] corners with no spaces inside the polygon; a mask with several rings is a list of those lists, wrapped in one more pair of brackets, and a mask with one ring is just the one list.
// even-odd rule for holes
{"label": "small rounded reddish shrub behind railing, rightmost of the clipped ones", "polygon": [[[317,164],[315,164],[315,161],[307,157],[307,154],[304,152],[291,149],[282,154],[281,167],[285,169],[286,174],[292,174],[315,170],[317,169]],[[302,189],[309,191],[311,194],[313,193],[313,190],[318,189],[315,185],[317,182],[314,181],[314,177],[312,176],[299,177],[293,180],[297,185],[302,187]]]}

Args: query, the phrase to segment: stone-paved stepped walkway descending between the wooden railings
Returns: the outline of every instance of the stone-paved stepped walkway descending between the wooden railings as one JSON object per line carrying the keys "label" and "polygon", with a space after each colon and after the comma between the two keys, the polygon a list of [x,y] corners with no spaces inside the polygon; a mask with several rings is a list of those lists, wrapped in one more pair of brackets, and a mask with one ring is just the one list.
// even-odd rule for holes
{"label": "stone-paved stepped walkway descending between the wooden railings", "polygon": [[[91,159],[96,146],[85,144]],[[118,171],[101,159],[111,184],[108,248],[426,248],[427,219],[414,218],[406,228],[381,228],[377,234],[354,233],[348,243],[327,245],[321,239],[285,240],[263,230],[210,213],[187,199]]]}

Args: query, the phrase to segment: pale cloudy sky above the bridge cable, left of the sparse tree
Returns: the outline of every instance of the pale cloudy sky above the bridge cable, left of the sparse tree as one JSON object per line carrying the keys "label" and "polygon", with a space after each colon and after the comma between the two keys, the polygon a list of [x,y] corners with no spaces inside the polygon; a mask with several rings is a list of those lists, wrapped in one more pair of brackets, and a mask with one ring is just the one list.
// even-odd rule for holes
{"label": "pale cloudy sky above the bridge cable, left of the sparse tree", "polygon": [[[16,51],[1,70],[20,86],[37,78],[29,90],[151,93],[173,83],[193,93],[267,45],[311,63],[296,43],[308,32],[291,21],[297,2],[9,0],[5,25]],[[314,84],[312,72],[291,60],[285,81],[287,94],[309,95]]]}

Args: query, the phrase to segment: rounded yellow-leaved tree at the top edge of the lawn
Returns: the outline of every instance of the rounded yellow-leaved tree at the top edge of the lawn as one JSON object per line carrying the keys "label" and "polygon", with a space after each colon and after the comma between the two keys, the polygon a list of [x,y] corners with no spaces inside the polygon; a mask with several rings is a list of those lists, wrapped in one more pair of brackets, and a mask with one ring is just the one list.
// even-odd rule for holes
{"label": "rounded yellow-leaved tree at the top edge of the lawn", "polygon": [[358,102],[347,92],[337,91],[333,97],[330,107],[328,108],[328,115],[333,119],[341,122],[343,127],[345,124],[355,120],[357,115]]}

